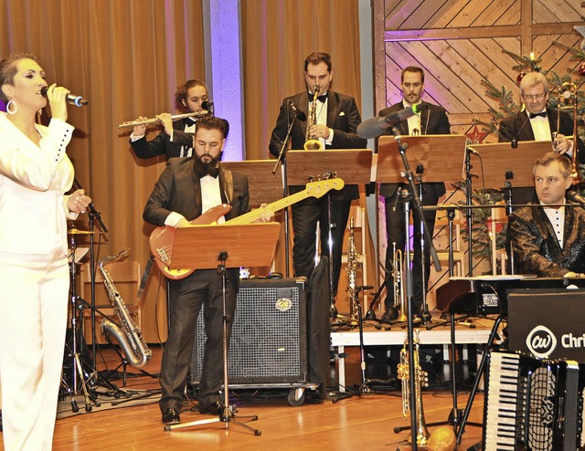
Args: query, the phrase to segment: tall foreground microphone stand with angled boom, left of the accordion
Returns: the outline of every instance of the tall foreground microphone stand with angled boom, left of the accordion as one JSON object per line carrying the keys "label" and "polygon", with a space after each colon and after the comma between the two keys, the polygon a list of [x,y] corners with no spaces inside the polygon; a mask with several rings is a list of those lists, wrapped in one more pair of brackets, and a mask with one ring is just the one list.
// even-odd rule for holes
{"label": "tall foreground microphone stand with angled boom, left of the accordion", "polygon": [[[399,152],[400,157],[402,158],[402,164],[404,165],[404,173],[409,182],[409,191],[406,194],[407,198],[404,200],[404,233],[406,237],[406,246],[405,246],[405,254],[406,254],[406,270],[404,271],[404,279],[406,283],[406,297],[407,297],[407,304],[408,304],[408,351],[409,351],[409,383],[410,383],[410,440],[411,446],[413,451],[417,451],[417,412],[416,412],[416,381],[415,381],[415,367],[414,367],[414,324],[413,324],[413,312],[412,312],[412,268],[410,267],[410,250],[409,250],[409,223],[410,223],[410,200],[412,200],[412,205],[414,206],[414,211],[416,211],[420,217],[422,216],[422,209],[420,207],[420,199],[417,195],[416,185],[414,184],[414,177],[412,175],[412,171],[410,170],[410,164],[406,157],[406,150],[408,148],[408,144],[406,142],[402,142],[400,139],[399,131],[396,128],[392,128],[392,133],[394,134],[394,138],[399,145]],[[403,194],[404,195],[404,194]],[[420,233],[424,233],[424,236],[427,238],[428,243],[431,246],[431,258],[434,263],[435,268],[437,271],[441,271],[441,263],[439,262],[439,256],[437,255],[437,251],[432,246],[431,235],[429,230],[424,224],[424,221],[421,224]]]}

